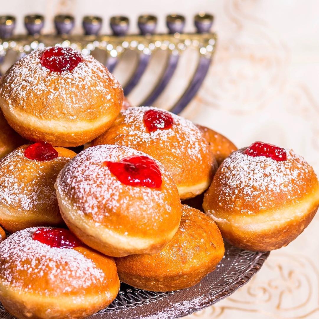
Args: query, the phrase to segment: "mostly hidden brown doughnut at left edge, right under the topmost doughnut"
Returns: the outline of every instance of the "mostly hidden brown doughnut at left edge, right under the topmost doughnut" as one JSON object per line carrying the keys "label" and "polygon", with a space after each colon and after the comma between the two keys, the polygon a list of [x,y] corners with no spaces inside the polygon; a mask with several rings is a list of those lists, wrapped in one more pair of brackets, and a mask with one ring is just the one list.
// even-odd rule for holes
{"label": "mostly hidden brown doughnut at left edge, right under the topmost doughnut", "polygon": [[0,159],[25,143],[26,140],[11,128],[0,110]]}

